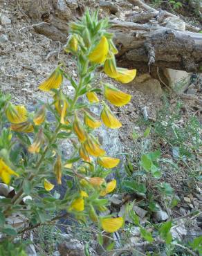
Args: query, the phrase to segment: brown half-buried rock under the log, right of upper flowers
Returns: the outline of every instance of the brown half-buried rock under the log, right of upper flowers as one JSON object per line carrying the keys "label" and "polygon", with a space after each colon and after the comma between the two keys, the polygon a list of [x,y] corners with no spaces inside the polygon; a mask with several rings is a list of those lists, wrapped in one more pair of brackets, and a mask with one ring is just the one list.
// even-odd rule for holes
{"label": "brown half-buried rock under the log, right of upper flowers", "polygon": [[[145,79],[148,76],[145,76]],[[143,79],[143,77],[142,77]],[[139,77],[138,80],[141,80]],[[163,90],[161,89],[160,82],[157,79],[151,78],[143,80],[144,82],[136,82],[136,79],[130,83],[136,90],[142,91],[151,98],[160,98],[163,95]]]}

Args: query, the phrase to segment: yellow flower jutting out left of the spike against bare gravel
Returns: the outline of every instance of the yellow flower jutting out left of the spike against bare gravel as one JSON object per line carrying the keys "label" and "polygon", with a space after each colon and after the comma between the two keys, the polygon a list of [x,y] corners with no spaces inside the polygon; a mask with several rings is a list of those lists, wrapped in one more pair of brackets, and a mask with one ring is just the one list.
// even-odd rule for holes
{"label": "yellow flower jutting out left of the spike against bare gravel", "polygon": [[59,67],[55,68],[55,71],[48,77],[47,80],[39,85],[39,89],[42,91],[50,91],[51,89],[58,89],[62,84],[63,76]]}

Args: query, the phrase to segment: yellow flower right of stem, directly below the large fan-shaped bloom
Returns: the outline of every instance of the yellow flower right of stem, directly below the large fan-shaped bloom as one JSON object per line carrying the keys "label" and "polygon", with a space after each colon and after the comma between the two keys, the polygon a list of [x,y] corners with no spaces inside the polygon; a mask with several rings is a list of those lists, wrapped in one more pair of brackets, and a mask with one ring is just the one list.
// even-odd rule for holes
{"label": "yellow flower right of stem, directly below the large fan-shaped bloom", "polygon": [[107,105],[104,105],[104,108],[102,109],[101,118],[104,125],[111,129],[118,129],[122,126],[121,122],[113,115]]}

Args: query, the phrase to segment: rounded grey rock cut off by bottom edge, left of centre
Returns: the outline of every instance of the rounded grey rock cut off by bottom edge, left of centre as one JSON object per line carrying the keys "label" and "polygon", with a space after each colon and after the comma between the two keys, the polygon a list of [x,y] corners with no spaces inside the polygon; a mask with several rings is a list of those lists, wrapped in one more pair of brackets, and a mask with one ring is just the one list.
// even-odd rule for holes
{"label": "rounded grey rock cut off by bottom edge, left of centre", "polygon": [[83,244],[76,239],[69,239],[59,244],[61,256],[85,256]]}

